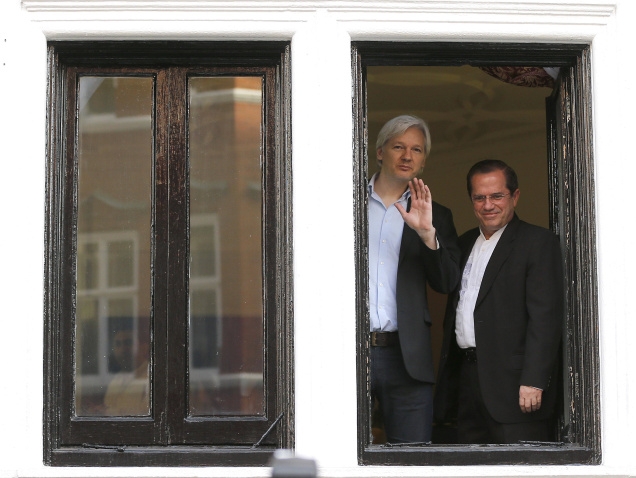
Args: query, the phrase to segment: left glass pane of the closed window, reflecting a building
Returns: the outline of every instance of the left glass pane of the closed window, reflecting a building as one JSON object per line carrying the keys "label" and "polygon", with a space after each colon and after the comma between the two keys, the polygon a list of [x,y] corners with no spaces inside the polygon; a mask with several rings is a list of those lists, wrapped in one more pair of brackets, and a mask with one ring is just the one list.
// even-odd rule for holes
{"label": "left glass pane of the closed window, reflecting a building", "polygon": [[150,413],[152,78],[82,77],[75,414]]}

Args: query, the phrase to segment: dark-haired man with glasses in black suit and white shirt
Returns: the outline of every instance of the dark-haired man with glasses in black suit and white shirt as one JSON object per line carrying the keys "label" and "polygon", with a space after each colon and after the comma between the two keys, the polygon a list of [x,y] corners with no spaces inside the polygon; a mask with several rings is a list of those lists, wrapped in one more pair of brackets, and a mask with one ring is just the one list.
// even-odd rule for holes
{"label": "dark-haired man with glasses in black suit and white shirt", "polygon": [[479,227],[459,238],[463,274],[444,320],[435,417],[446,421],[457,406],[460,443],[549,441],[563,324],[559,240],[517,217],[517,175],[503,161],[475,164],[467,187]]}

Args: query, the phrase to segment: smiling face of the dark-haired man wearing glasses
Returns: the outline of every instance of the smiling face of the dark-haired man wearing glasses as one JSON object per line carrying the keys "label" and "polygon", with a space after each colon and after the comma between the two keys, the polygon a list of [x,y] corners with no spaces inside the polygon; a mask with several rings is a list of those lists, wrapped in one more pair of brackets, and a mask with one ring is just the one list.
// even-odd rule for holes
{"label": "smiling face of the dark-haired man wearing glasses", "polygon": [[503,171],[475,174],[471,184],[473,210],[479,220],[481,231],[486,239],[489,239],[514,216],[519,190],[510,194]]}

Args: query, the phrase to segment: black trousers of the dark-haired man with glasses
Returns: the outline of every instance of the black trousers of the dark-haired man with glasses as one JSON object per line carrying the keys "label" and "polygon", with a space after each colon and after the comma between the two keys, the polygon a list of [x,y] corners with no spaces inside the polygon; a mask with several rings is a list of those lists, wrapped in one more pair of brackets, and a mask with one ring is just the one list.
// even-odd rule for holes
{"label": "black trousers of the dark-haired man with glasses", "polygon": [[477,360],[464,358],[459,378],[457,438],[464,444],[549,441],[549,421],[499,423],[493,420],[481,395]]}

